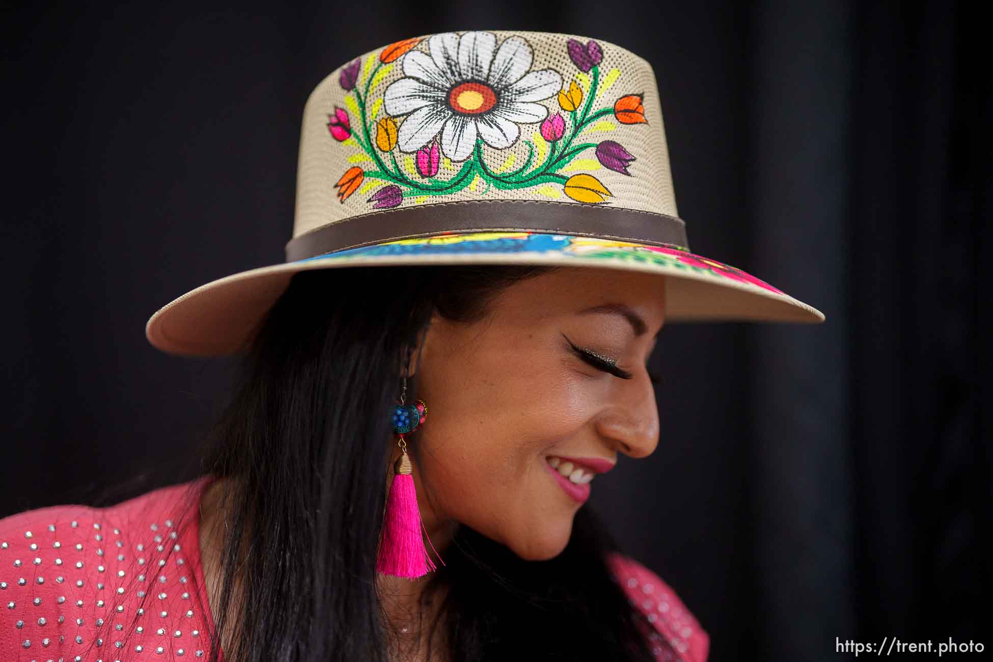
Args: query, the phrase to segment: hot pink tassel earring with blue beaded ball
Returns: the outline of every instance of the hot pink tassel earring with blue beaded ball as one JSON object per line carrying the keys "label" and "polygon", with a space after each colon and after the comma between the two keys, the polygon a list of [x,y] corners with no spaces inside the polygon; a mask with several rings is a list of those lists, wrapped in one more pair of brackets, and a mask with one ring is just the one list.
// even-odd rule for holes
{"label": "hot pink tassel earring with blue beaded ball", "polygon": [[[435,570],[436,566],[421,539],[423,529],[424,537],[431,544],[431,538],[427,535],[427,529],[421,521],[421,512],[417,507],[413,464],[407,455],[407,442],[404,439],[405,435],[424,424],[427,420],[428,408],[423,400],[417,400],[413,405],[404,405],[406,392],[407,378],[404,377],[400,404],[393,407],[390,416],[393,431],[400,437],[397,446],[400,447],[402,455],[393,466],[393,482],[386,497],[386,515],[376,559],[376,571],[383,575],[414,580]],[[438,555],[433,544],[431,550],[441,561],[441,556]],[[442,565],[444,564],[445,562],[442,561]]]}

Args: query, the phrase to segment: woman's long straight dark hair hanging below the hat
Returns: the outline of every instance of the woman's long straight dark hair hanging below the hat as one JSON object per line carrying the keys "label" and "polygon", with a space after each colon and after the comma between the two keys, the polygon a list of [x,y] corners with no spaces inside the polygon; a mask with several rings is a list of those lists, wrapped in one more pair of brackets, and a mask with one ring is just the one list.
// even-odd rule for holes
{"label": "woman's long straight dark hair hanging below the hat", "polygon": [[[481,321],[504,288],[554,269],[352,267],[293,277],[245,355],[202,463],[232,479],[212,661],[231,628],[227,662],[386,662],[375,560],[392,451],[384,412],[398,396],[403,357],[435,312]],[[415,375],[407,400],[416,397]],[[416,463],[418,445],[409,452]],[[446,628],[453,660],[652,660],[647,621],[607,565],[616,549],[589,505],[565,550],[542,562],[459,525],[445,565],[425,581],[424,601],[447,591],[421,631],[431,641]]]}

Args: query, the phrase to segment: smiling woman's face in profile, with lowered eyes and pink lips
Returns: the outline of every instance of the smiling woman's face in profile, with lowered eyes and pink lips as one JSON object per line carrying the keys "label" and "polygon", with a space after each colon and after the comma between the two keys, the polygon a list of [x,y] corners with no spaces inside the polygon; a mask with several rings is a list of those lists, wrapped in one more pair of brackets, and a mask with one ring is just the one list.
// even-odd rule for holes
{"label": "smiling woman's face in profile, with lowered eyes and pink lips", "polygon": [[[457,270],[454,276],[445,277],[450,287],[461,282]],[[560,268],[500,291],[480,322],[432,321],[417,392],[425,402],[445,404],[432,410],[416,448],[425,454],[421,471],[438,476],[429,482],[447,513],[443,519],[470,526],[522,559],[562,552],[581,505],[567,496],[590,486],[549,480],[568,473],[570,463],[549,471],[546,459],[613,465],[619,453],[642,458],[658,443],[644,368],[650,336],[636,335],[622,316],[578,312],[616,302],[656,330],[664,319],[664,285],[663,277],[638,272],[605,279],[597,269]],[[565,343],[563,336],[575,339]],[[631,379],[619,379],[611,374],[616,363],[638,368]]]}

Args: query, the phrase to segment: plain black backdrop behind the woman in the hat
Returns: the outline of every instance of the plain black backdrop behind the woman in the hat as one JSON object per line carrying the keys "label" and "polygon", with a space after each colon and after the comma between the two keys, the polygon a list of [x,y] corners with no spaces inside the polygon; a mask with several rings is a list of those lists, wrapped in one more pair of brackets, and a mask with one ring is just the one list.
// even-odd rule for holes
{"label": "plain black backdrop behind the woman in the hat", "polygon": [[659,448],[599,478],[593,507],[713,660],[852,657],[836,637],[993,646],[979,6],[8,6],[0,516],[192,456],[231,363],[163,354],[145,322],[283,261],[325,75],[416,35],[566,32],[653,66],[694,251],[827,315],[664,331]]}

